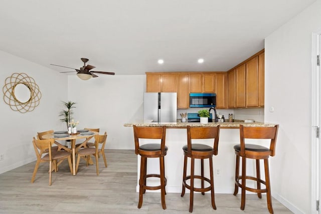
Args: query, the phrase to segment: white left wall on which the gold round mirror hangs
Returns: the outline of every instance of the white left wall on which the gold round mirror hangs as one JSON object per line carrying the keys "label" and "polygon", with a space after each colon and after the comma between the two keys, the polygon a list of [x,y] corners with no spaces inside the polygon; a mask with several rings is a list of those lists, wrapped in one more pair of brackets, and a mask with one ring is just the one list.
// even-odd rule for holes
{"label": "white left wall on which the gold round mirror hangs", "polygon": [[2,51],[0,67],[1,88],[13,73],[26,73],[34,78],[42,93],[39,106],[26,113],[13,111],[3,101],[4,94],[1,93],[0,130],[3,134],[0,154],[4,154],[5,159],[0,161],[0,173],[3,173],[36,160],[32,138],[36,137],[37,132],[61,129],[58,115],[62,107],[60,101],[67,99],[67,77]]}

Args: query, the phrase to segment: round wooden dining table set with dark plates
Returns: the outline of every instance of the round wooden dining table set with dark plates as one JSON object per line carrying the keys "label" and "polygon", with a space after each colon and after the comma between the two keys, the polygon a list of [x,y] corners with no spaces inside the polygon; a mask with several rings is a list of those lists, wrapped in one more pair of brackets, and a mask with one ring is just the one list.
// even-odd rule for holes
{"label": "round wooden dining table set with dark plates", "polygon": [[55,140],[70,140],[71,143],[71,150],[72,150],[72,174],[76,175],[76,140],[79,139],[85,139],[81,144],[83,144],[84,146],[86,146],[86,143],[93,138],[95,135],[99,134],[96,131],[92,131],[93,134],[91,135],[82,135],[79,132],[77,133],[72,133],[69,134],[69,136],[67,137],[56,137],[53,133],[52,134],[45,134],[43,135],[44,139],[55,139]]}

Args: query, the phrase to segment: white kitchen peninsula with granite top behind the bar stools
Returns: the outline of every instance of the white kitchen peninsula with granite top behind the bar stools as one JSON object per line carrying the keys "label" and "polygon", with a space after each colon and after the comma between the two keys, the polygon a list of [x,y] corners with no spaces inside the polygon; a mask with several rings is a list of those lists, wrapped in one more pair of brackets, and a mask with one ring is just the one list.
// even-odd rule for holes
{"label": "white kitchen peninsula with granite top behind the bar stools", "polygon": [[[216,193],[233,193],[234,191],[234,174],[235,174],[235,154],[233,146],[239,143],[239,126],[265,126],[273,127],[275,124],[271,123],[244,123],[244,122],[217,122],[217,123],[157,123],[157,122],[132,122],[124,124],[125,127],[145,126],[145,127],[159,127],[167,126],[166,132],[166,145],[169,147],[168,153],[165,156],[165,174],[167,177],[167,192],[181,192],[182,191],[182,179],[183,179],[183,166],[184,166],[184,154],[182,147],[187,144],[187,129],[190,126],[217,126],[220,125],[220,139],[218,147],[218,155],[213,156],[213,168],[214,168],[214,185]],[[132,141],[134,143],[134,140]],[[147,142],[147,141],[146,141]],[[142,143],[144,143],[142,141]],[[202,141],[202,143],[213,146],[213,141]],[[265,143],[265,142],[263,142]],[[264,146],[268,145],[262,144]],[[139,177],[140,158],[137,158],[137,177]],[[190,160],[188,161],[190,164]],[[208,169],[208,161],[204,161],[204,168]],[[248,161],[247,170],[249,173],[255,172],[255,164],[252,161]],[[209,177],[209,170],[205,170],[205,175]],[[158,159],[150,158],[147,163],[147,173],[158,173],[159,163]],[[189,173],[189,169],[188,169]],[[273,172],[271,172],[273,173]],[[195,174],[200,174],[200,162],[195,162]],[[196,180],[198,181],[198,180]],[[147,183],[150,185],[157,185],[158,180],[149,180]],[[196,182],[196,185],[200,183]],[[138,178],[136,191],[138,191]],[[188,192],[188,189],[187,189]]]}

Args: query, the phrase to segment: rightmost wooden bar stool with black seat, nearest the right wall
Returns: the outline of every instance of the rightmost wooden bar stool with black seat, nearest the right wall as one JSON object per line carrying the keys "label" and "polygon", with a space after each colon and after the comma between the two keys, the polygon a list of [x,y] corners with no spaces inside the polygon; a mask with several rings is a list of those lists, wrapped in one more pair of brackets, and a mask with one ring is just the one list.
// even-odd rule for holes
{"label": "rightmost wooden bar stool with black seat, nearest the right wall", "polygon": [[[266,192],[267,208],[270,213],[273,213],[270,177],[269,177],[269,156],[275,155],[275,143],[278,131],[278,125],[274,127],[245,127],[240,125],[240,144],[234,146],[236,154],[236,169],[235,169],[235,189],[234,195],[238,193],[239,187],[241,193],[241,209],[245,208],[245,190],[256,192],[259,198],[262,198],[262,193]],[[257,144],[245,143],[245,139],[269,139],[269,148]],[[258,140],[259,142],[260,140]],[[242,173],[239,174],[240,156],[242,157]],[[256,162],[256,177],[246,175],[246,159],[255,159]],[[260,160],[264,160],[265,181],[260,178]],[[257,188],[246,186],[246,180],[256,181]],[[240,180],[242,182],[240,183]],[[261,188],[261,183],[265,185],[265,189]]]}

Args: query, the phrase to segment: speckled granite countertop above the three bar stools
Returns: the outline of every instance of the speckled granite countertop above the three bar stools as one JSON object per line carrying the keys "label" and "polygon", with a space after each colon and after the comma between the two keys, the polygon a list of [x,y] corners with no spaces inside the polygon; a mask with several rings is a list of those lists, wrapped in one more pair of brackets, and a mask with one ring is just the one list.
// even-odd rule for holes
{"label": "speckled granite countertop above the three bar stools", "polygon": [[167,126],[168,128],[186,128],[188,125],[192,127],[207,127],[207,126],[218,126],[220,125],[221,128],[227,129],[238,129],[240,125],[244,126],[252,126],[252,127],[273,127],[276,124],[272,123],[261,123],[261,122],[253,122],[253,123],[245,123],[245,122],[216,122],[216,123],[182,123],[182,122],[172,122],[172,123],[157,123],[157,122],[132,122],[132,123],[125,123],[125,127],[132,127],[133,125],[136,126],[144,126],[144,127],[161,127]]}

